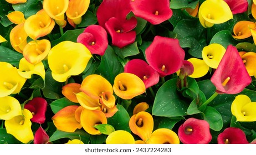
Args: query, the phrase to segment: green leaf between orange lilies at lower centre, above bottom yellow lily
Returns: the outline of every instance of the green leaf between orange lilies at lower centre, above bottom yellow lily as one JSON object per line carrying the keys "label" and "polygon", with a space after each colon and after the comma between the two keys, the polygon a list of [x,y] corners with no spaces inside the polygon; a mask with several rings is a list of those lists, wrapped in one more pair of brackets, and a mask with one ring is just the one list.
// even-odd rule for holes
{"label": "green leaf between orange lilies at lower centre, above bottom yellow lily", "polygon": [[119,111],[114,116],[107,118],[107,124],[115,128],[115,130],[125,130],[131,132],[129,127],[130,116],[125,108],[121,105],[116,106]]}

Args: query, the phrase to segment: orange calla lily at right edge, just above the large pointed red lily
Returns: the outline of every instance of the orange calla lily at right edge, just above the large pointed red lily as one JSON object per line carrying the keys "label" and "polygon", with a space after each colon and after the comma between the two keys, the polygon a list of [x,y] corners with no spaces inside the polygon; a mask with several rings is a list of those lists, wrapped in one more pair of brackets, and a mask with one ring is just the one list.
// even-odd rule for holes
{"label": "orange calla lily at right edge, just above the large pointed red lily", "polygon": [[250,22],[247,20],[242,20],[237,22],[234,25],[233,33],[232,35],[235,39],[245,39],[252,36],[252,32],[250,29],[255,29],[256,24],[254,22]]}

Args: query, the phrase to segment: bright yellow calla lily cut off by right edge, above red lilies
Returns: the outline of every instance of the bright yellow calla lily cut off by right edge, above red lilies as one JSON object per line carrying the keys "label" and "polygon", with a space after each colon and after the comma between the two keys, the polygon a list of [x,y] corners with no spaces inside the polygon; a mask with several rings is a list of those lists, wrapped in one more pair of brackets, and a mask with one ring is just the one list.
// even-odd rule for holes
{"label": "bright yellow calla lily cut off by right edge, above red lilies", "polygon": [[239,122],[256,121],[256,102],[246,95],[238,95],[231,104],[231,112]]}

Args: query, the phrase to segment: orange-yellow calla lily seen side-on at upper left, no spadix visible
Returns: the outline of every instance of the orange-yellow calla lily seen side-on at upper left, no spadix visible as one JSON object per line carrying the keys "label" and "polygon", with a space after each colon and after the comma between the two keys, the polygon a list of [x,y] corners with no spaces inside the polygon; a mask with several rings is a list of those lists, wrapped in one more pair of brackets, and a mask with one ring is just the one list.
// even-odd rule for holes
{"label": "orange-yellow calla lily seen side-on at upper left, no spadix visible", "polygon": [[28,34],[25,32],[24,23],[16,25],[10,32],[10,42],[16,51],[22,53],[25,45],[27,45]]}

